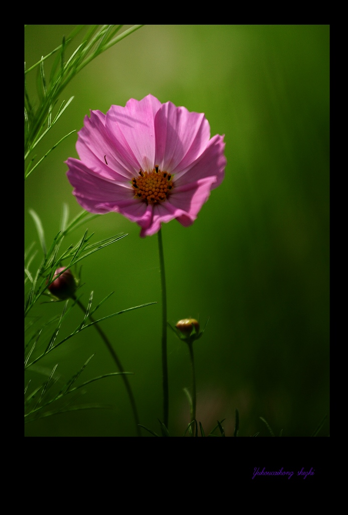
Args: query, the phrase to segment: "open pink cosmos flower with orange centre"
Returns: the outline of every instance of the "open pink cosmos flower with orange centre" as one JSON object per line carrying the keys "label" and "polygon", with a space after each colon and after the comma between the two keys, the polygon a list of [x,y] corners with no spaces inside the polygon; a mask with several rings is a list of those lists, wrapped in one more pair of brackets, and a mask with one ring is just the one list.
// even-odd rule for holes
{"label": "open pink cosmos flower with orange centre", "polygon": [[152,95],[91,111],[78,136],[80,160],[66,161],[77,201],[91,213],[121,213],[141,237],[173,218],[193,224],[225,175],[224,136],[210,138],[204,113]]}

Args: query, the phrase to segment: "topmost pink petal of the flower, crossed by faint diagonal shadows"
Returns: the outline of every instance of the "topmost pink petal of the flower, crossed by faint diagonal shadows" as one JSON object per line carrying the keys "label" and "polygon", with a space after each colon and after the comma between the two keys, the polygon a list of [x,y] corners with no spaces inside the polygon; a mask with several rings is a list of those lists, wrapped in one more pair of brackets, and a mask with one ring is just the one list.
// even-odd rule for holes
{"label": "topmost pink petal of the flower, crossed by faint diagonal shadows", "polygon": [[111,106],[106,113],[106,129],[115,148],[137,173],[155,165],[154,118],[160,107],[160,101],[148,95],[140,101],[131,98],[125,107]]}

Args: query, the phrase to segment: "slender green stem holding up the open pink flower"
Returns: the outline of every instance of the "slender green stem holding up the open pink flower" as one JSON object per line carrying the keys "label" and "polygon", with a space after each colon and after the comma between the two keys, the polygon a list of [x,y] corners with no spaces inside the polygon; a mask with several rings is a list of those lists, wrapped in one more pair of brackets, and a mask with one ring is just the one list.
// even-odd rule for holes
{"label": "slender green stem holding up the open pink flower", "polygon": [[163,423],[168,429],[169,418],[169,388],[168,388],[168,364],[167,364],[167,293],[166,274],[164,273],[164,256],[162,244],[162,229],[158,235],[159,268],[161,273],[162,289],[162,374],[163,374]]}

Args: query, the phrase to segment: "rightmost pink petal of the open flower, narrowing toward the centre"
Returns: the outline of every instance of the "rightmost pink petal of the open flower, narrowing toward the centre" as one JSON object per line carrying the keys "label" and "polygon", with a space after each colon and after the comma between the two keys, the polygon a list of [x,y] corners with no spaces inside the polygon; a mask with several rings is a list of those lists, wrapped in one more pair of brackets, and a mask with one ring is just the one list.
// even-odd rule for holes
{"label": "rightmost pink petal of the open flower, narrowing toward the centre", "polygon": [[224,156],[225,143],[223,140],[224,136],[219,136],[218,134],[213,136],[205,151],[193,165],[175,174],[175,188],[198,181],[204,177],[215,177],[212,188],[216,188],[221,184],[225,176],[225,166],[227,163]]}

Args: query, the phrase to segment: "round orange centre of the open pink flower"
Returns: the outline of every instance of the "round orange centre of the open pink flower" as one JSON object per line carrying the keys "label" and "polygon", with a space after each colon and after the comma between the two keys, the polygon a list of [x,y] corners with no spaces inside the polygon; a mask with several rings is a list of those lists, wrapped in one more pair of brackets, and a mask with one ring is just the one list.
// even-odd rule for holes
{"label": "round orange centre of the open pink flower", "polygon": [[143,199],[148,204],[163,202],[173,188],[171,179],[172,175],[159,170],[157,165],[150,174],[146,170],[140,170],[139,175],[131,181],[135,197]]}

